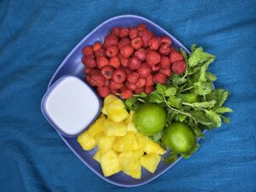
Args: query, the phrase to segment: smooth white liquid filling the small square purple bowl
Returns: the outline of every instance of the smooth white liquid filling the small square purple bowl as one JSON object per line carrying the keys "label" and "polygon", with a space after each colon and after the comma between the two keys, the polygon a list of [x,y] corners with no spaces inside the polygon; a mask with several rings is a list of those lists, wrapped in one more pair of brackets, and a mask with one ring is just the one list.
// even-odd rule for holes
{"label": "smooth white liquid filling the small square purple bowl", "polygon": [[67,135],[76,135],[96,117],[100,103],[88,85],[72,76],[63,79],[46,98],[49,118]]}

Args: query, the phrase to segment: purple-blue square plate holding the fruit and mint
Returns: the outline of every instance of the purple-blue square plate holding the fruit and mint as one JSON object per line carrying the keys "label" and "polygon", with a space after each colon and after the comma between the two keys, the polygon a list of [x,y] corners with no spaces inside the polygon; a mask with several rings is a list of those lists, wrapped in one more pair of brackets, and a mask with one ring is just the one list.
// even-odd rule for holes
{"label": "purple-blue square plate holding the fruit and mint", "polygon": [[[166,32],[160,26],[154,24],[151,20],[143,18],[137,15],[120,15],[113,17],[109,20],[104,21],[101,25],[97,26],[92,32],[90,32],[82,41],[70,52],[69,55],[62,61],[61,66],[58,67],[52,79],[50,79],[49,86],[52,86],[58,79],[64,75],[73,75],[79,79],[84,79],[84,65],[81,62],[82,58],[82,49],[85,45],[94,44],[96,41],[103,41],[105,36],[114,26],[137,26],[139,23],[145,23],[148,26],[148,29],[154,32],[158,36],[169,36],[172,38],[172,45],[177,49],[184,49],[187,53],[190,53],[183,44],[177,41],[171,34]],[[73,151],[77,157],[82,160],[82,162],[90,168],[92,172],[95,172],[97,176],[101,177],[103,180],[108,183],[112,183],[122,187],[136,187],[149,183],[154,180],[156,177],[160,177],[161,174],[172,168],[182,157],[179,157],[178,160],[172,165],[166,165],[162,161],[160,162],[157,170],[154,174],[151,174],[143,169],[141,179],[135,179],[125,175],[122,172],[115,174],[111,177],[104,177],[102,174],[102,168],[96,160],[93,160],[92,157],[96,153],[96,148],[91,151],[84,151],[79,143],[77,142],[77,137],[65,137],[58,132],[63,141],[67,146]],[[82,172],[82,171],[81,171]]]}

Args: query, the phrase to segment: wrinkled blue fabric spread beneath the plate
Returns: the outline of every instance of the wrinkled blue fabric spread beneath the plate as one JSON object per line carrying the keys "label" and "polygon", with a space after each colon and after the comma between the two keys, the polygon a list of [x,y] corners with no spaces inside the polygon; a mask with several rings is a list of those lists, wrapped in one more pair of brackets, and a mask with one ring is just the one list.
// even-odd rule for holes
{"label": "wrinkled blue fabric spread beneath the plate", "polygon": [[[230,90],[230,125],[144,186],[105,183],[44,119],[50,77],[92,29],[115,15],[142,15],[217,60],[216,87]],[[256,2],[0,1],[0,191],[256,191]]]}

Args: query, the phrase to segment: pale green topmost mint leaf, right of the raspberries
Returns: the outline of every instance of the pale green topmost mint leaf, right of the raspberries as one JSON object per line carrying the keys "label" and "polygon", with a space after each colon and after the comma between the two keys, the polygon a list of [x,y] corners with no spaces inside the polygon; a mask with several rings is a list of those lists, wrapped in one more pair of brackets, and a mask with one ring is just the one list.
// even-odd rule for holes
{"label": "pale green topmost mint leaf, right of the raspberries", "polygon": [[197,65],[203,64],[212,58],[214,58],[214,56],[204,52],[201,47],[196,49],[194,48],[192,54],[189,56],[189,67],[195,67]]}

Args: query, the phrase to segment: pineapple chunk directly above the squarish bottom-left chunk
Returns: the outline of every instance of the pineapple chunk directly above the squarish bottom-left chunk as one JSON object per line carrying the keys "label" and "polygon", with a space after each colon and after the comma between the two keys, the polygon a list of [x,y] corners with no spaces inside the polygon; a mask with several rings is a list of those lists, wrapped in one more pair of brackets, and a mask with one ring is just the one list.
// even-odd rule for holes
{"label": "pineapple chunk directly above the squarish bottom-left chunk", "polygon": [[115,137],[107,137],[103,133],[96,135],[96,145],[102,153],[110,150],[113,146]]}

